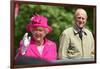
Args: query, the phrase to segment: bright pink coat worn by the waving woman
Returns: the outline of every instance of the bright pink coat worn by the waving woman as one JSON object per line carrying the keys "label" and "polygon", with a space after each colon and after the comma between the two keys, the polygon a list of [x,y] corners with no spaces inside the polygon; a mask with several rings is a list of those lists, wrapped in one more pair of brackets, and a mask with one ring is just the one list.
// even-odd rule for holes
{"label": "bright pink coat worn by the waving woman", "polygon": [[[22,45],[23,45],[23,43],[21,41],[20,48]],[[38,49],[34,43],[34,40],[31,40],[30,45],[28,46],[28,48],[25,52],[25,56],[42,58],[42,59],[45,59],[47,61],[56,60],[57,59],[56,44],[53,41],[45,39],[44,49],[43,49],[42,55],[40,55],[38,52]]]}

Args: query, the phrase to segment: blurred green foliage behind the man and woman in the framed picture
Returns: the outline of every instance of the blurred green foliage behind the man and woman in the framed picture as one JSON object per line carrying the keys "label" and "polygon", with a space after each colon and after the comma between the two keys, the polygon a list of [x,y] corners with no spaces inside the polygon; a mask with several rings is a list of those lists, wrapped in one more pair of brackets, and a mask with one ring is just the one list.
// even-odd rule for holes
{"label": "blurred green foliage behind the man and woman in the framed picture", "polygon": [[[48,18],[48,24],[53,28],[52,33],[47,38],[56,42],[59,47],[59,36],[65,28],[72,26],[75,6],[52,6],[20,4],[19,14],[15,19],[15,48],[19,47],[19,42],[25,34],[26,25],[29,23],[32,14],[38,13]],[[93,8],[83,7],[88,14],[87,28],[93,31]]]}

